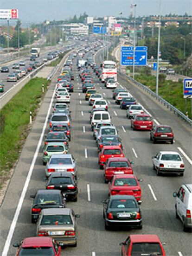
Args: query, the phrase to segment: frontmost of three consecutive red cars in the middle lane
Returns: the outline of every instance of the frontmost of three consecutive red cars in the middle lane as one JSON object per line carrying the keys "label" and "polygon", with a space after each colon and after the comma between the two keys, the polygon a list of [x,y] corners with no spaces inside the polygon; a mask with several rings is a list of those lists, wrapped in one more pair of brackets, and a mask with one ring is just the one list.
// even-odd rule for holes
{"label": "frontmost of three consecutive red cars in the middle lane", "polygon": [[98,164],[100,169],[103,169],[106,161],[111,157],[124,157],[122,148],[119,146],[104,146],[98,154]]}

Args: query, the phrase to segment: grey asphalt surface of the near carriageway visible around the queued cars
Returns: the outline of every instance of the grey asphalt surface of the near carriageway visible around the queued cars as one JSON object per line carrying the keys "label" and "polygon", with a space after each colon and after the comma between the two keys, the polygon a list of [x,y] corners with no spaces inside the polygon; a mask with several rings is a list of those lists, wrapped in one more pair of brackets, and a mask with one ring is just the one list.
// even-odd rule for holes
{"label": "grey asphalt surface of the near carriageway visible around the queued cars", "polygon": [[[101,63],[102,51],[96,54],[96,62]],[[77,248],[64,248],[64,256],[118,256],[121,253],[119,243],[125,240],[129,234],[150,233],[157,234],[162,242],[167,256],[191,256],[191,233],[183,232],[181,222],[175,218],[173,192],[177,191],[183,183],[191,182],[192,152],[191,152],[191,129],[182,121],[150,96],[145,95],[134,85],[128,83],[123,77],[118,76],[118,83],[142,104],[142,106],[154,117],[154,122],[167,124],[173,128],[175,143],[153,144],[149,140],[149,133],[133,131],[130,121],[126,118],[125,110],[119,108],[112,100],[112,91],[105,89],[98,78],[94,75],[94,83],[98,92],[102,93],[109,103],[109,113],[112,123],[118,128],[119,135],[124,145],[124,153],[134,161],[134,173],[143,181],[141,211],[143,217],[143,230],[119,230],[106,231],[102,218],[102,200],[108,196],[108,185],[104,184],[103,170],[97,164],[97,148],[92,137],[89,123],[89,111],[91,107],[84,100],[81,90],[81,82],[74,60],[73,73],[75,74],[75,90],[71,94],[70,110],[72,111],[72,139],[70,142],[70,153],[77,159],[79,196],[77,203],[69,202],[67,207],[73,208],[75,213],[81,215],[78,219]],[[60,69],[61,70],[61,69]],[[30,194],[45,187],[45,166],[42,165],[42,148],[44,138],[42,132],[48,132],[45,123],[49,106],[52,106],[51,98],[56,85],[58,70],[52,79],[51,86],[47,91],[44,101],[39,109],[31,132],[26,139],[19,162],[13,173],[6,197],[0,208],[0,252],[2,253],[5,242],[9,245],[7,235],[12,224],[13,238],[9,232],[8,238],[11,244],[19,242],[24,237],[35,236],[36,225],[31,224],[30,209],[32,201]],[[53,99],[53,98],[52,98]],[[51,103],[50,103],[51,102]],[[40,150],[38,152],[38,147]],[[165,175],[157,177],[152,166],[152,156],[160,150],[184,151],[183,159],[186,166],[184,177]],[[180,153],[180,152],[179,152]],[[185,155],[186,154],[186,155]],[[186,156],[189,159],[186,159]],[[37,157],[37,159],[36,159]],[[23,186],[28,172],[29,186],[26,194]],[[24,198],[21,211],[14,214],[18,206],[19,198]],[[13,219],[14,218],[14,219]],[[13,221],[13,222],[12,222]],[[14,229],[15,228],[15,229]],[[8,249],[8,248],[7,248]],[[16,250],[11,246],[8,256],[14,255]]]}

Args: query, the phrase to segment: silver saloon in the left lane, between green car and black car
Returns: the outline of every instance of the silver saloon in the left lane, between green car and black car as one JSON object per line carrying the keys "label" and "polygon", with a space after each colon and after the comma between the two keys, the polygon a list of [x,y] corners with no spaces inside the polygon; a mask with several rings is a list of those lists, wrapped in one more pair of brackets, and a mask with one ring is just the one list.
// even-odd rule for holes
{"label": "silver saloon in the left lane, between green car and black car", "polygon": [[46,177],[49,177],[53,172],[71,172],[77,177],[76,160],[71,154],[52,155],[45,167]]}

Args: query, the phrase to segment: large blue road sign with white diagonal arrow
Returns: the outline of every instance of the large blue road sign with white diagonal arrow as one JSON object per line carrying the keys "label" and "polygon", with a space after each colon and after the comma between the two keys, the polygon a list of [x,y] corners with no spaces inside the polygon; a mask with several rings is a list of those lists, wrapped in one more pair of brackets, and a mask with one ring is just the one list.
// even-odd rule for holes
{"label": "large blue road sign with white diagonal arrow", "polygon": [[[134,59],[134,62],[133,62]],[[146,66],[147,65],[147,46],[122,46],[122,61],[124,66]]]}

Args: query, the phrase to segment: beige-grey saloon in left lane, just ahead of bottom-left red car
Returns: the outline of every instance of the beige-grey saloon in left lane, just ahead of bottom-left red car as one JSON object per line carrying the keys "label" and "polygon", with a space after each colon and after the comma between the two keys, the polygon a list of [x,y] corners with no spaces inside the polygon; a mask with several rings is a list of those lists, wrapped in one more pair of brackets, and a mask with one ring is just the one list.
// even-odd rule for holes
{"label": "beige-grey saloon in left lane, just ahead of bottom-left red car", "polygon": [[77,246],[77,224],[74,211],[70,208],[43,209],[37,222],[37,236],[49,236],[60,245]]}

